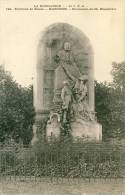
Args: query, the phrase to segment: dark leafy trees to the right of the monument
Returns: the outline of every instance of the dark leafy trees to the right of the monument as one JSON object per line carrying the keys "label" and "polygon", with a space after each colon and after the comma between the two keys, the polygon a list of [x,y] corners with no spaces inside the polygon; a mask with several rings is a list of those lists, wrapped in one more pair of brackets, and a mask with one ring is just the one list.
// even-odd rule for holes
{"label": "dark leafy trees to the right of the monument", "polygon": [[112,83],[96,81],[95,108],[103,136],[121,138],[125,134],[125,62],[114,62],[111,74]]}

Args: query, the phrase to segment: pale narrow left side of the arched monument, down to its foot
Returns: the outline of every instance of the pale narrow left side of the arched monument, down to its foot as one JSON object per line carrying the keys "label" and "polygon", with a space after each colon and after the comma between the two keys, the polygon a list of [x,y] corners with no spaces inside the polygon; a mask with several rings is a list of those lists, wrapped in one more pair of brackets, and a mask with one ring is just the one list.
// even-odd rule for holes
{"label": "pale narrow left side of the arched monument, down to its foot", "polygon": [[45,65],[45,49],[44,44],[38,47],[38,57],[36,66],[36,79],[34,85],[34,108],[35,108],[35,124],[33,125],[32,145],[39,140],[40,137],[45,138],[45,124],[47,121],[47,112],[43,102],[43,86],[44,86],[44,65]]}

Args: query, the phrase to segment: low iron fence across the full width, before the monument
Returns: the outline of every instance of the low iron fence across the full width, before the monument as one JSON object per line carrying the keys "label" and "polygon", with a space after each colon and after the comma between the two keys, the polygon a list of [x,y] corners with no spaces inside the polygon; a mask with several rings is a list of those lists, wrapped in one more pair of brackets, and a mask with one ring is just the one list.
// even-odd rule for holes
{"label": "low iron fence across the full width, before the monument", "polygon": [[0,148],[0,179],[111,179],[125,177],[123,148],[49,148],[42,152],[30,147]]}

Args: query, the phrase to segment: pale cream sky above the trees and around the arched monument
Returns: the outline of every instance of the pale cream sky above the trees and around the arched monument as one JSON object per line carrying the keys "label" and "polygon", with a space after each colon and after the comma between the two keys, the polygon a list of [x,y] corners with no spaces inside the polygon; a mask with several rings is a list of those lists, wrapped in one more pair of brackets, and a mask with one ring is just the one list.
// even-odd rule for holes
{"label": "pale cream sky above the trees and around the arched monument", "polygon": [[[11,71],[23,86],[33,83],[36,53],[41,32],[53,23],[66,22],[79,28],[94,50],[94,76],[98,81],[111,81],[113,61],[125,61],[125,1],[78,0],[85,7],[113,7],[105,11],[7,11],[6,8],[57,4],[61,0],[0,0],[0,64]],[[77,1],[77,3],[78,3]],[[76,0],[63,1],[74,4]],[[58,3],[58,4],[59,4]]]}

